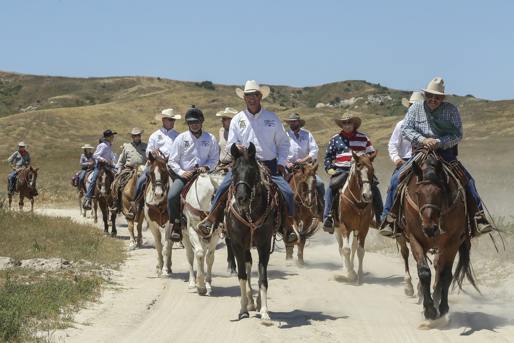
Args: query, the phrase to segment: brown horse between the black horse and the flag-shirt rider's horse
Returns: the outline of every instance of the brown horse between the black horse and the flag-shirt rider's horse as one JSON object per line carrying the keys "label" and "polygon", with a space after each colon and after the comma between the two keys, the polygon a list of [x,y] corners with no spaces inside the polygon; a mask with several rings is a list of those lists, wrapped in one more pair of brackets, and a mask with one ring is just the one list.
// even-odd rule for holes
{"label": "brown horse between the black horse and the flag-shirt rider's horse", "polygon": [[[314,218],[319,217],[318,213],[318,193],[316,191],[316,171],[318,165],[296,164],[293,166],[289,186],[295,194],[295,221],[298,223],[298,231],[307,231],[313,225]],[[316,225],[316,224],[315,224]],[[320,228],[318,224],[316,230]],[[299,268],[305,268],[303,260],[303,250],[305,248],[305,238],[298,243],[298,262]],[[292,260],[294,247],[286,246],[286,260]]]}

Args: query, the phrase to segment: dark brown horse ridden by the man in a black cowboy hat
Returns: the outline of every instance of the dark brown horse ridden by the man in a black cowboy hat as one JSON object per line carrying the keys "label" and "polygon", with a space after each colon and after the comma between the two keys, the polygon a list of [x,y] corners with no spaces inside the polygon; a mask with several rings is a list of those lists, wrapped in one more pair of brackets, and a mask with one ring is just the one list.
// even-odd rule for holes
{"label": "dark brown horse ridden by the man in a black cowboy hat", "polygon": [[[113,170],[107,166],[103,166],[98,171],[95,190],[93,194],[95,194],[97,204],[98,206],[100,206],[100,210],[102,211],[104,236],[109,235],[108,215],[111,214],[111,222],[113,226],[111,229],[111,237],[116,237],[116,235],[118,234],[116,230],[116,213],[111,213],[111,211],[109,211],[109,206],[113,205],[113,182]],[[95,216],[97,213],[97,204],[93,203]]]}

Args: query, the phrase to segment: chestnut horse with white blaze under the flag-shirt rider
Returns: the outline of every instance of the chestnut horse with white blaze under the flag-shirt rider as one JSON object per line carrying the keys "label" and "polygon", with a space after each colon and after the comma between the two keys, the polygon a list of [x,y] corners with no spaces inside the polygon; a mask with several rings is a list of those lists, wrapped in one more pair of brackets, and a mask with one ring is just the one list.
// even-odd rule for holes
{"label": "chestnut horse with white blaze under the flag-shirt rider", "polygon": [[[358,284],[362,284],[363,281],[364,242],[373,218],[371,188],[373,187],[374,168],[372,162],[376,155],[376,151],[371,156],[357,155],[352,151],[353,164],[343,188],[339,190],[338,215],[334,216],[334,227],[341,227],[341,230],[336,230],[339,254],[346,264],[348,279],[355,281],[357,278]],[[352,233],[353,240],[350,247]],[[354,269],[355,252],[359,259],[357,275]]]}

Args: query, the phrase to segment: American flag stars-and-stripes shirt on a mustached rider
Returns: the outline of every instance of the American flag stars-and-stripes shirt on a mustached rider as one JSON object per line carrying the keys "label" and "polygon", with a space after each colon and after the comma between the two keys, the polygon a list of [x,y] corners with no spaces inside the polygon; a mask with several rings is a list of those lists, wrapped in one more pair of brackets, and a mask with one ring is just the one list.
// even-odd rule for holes
{"label": "American flag stars-and-stripes shirt on a mustached rider", "polygon": [[325,171],[334,168],[348,170],[352,166],[352,151],[364,151],[366,155],[371,155],[375,149],[368,136],[357,131],[351,134],[341,131],[332,137],[326,148]]}

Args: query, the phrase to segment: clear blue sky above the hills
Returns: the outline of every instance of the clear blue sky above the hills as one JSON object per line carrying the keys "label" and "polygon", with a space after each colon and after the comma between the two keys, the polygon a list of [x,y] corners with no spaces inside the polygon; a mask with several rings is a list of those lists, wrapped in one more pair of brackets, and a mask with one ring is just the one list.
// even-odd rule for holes
{"label": "clear blue sky above the hills", "polygon": [[366,80],[514,99],[512,1],[109,1],[2,4],[0,70],[242,86]]}

